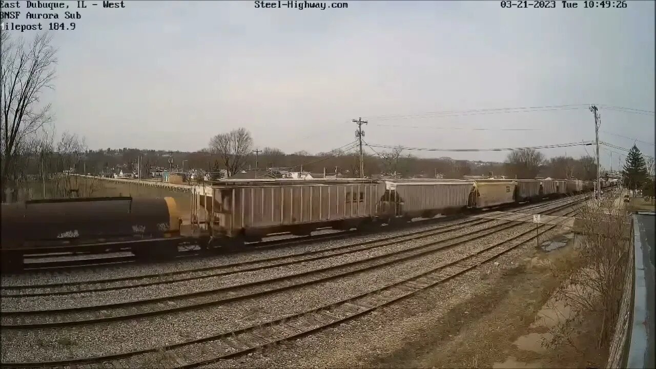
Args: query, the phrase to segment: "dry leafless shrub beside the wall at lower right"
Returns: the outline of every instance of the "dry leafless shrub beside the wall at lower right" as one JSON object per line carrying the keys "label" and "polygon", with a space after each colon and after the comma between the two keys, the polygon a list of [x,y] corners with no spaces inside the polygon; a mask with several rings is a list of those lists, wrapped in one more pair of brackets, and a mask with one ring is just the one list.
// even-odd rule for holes
{"label": "dry leafless shrub beside the wall at lower right", "polygon": [[576,257],[558,268],[558,277],[569,279],[556,289],[551,300],[552,305],[568,307],[570,314],[550,328],[551,338],[543,341],[547,347],[568,344],[581,351],[573,338],[586,316],[599,319],[598,349],[613,337],[631,257],[630,218],[615,200],[591,200],[581,207],[574,227],[580,241]]}

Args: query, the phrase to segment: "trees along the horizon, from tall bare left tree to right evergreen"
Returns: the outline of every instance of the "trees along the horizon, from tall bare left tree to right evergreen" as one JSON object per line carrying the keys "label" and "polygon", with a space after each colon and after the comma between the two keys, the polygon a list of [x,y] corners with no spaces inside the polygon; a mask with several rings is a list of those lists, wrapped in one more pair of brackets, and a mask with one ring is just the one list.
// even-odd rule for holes
{"label": "trees along the horizon, from tall bare left tree to right evergreen", "polygon": [[[3,55],[0,74],[0,183],[3,201],[8,189],[9,192],[18,190],[25,181],[54,180],[56,185],[52,196],[79,192],[76,177],[66,175],[69,171],[95,175],[116,173],[123,168],[148,173],[154,167],[184,167],[205,171],[225,169],[233,175],[249,168],[284,168],[311,173],[340,173],[344,177],[360,176],[357,150],[288,154],[280,148],[267,146],[255,153],[253,135],[244,127],[218,133],[209,139],[207,147],[196,152],[173,152],[173,158],[163,150],[90,150],[83,137],[68,132],[55,140],[51,105],[41,101],[43,92],[54,88],[57,58],[51,37],[37,35],[29,45],[22,39],[12,39],[8,32],[0,32],[0,37]],[[448,157],[419,158],[401,146],[379,151],[367,148],[363,160],[367,176],[462,178],[464,175],[480,175],[594,180],[596,175],[596,162],[590,156],[547,159],[542,152],[533,149],[512,151],[504,162],[470,162]],[[137,163],[139,167],[136,167]],[[642,188],[651,183],[653,187],[653,160],[645,162],[636,146],[629,153],[626,165],[627,186]],[[86,193],[90,191],[92,188],[85,190]]]}

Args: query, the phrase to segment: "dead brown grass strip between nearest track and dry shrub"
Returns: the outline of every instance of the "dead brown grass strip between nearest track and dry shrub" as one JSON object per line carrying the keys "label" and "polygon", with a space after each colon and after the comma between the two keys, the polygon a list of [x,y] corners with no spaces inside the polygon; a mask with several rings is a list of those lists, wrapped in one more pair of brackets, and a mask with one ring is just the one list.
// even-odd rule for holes
{"label": "dead brown grass strip between nearest track and dry shrub", "polygon": [[[604,355],[596,350],[594,333],[598,327],[593,320],[583,320],[577,327],[580,335],[573,337],[577,352],[572,347],[558,351],[544,349],[542,353],[518,349],[514,341],[520,336],[535,333],[531,326],[537,313],[552,293],[567,279],[567,274],[552,274],[554,267],[567,271],[576,253],[571,247],[544,254],[535,251],[522,263],[505,267],[500,272],[482,274],[485,288],[467,301],[451,309],[439,326],[426,327],[420,342],[405,346],[390,356],[379,358],[369,367],[382,368],[477,368],[510,367],[513,357],[520,363],[537,367],[602,367]],[[537,331],[546,332],[546,328]],[[538,343],[539,345],[539,343]],[[511,360],[512,361],[512,360]]]}

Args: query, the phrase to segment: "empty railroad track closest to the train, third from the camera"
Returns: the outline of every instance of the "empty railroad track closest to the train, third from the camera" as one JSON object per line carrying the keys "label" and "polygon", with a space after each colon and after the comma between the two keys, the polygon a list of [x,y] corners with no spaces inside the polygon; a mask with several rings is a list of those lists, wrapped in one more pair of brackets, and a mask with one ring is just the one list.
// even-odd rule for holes
{"label": "empty railroad track closest to the train, third from the camera", "polygon": [[[523,211],[530,209],[539,209],[544,206],[559,204],[561,202],[570,202],[568,200],[560,200],[548,204],[539,204],[533,206],[523,207]],[[379,244],[380,240],[369,240],[365,242],[358,242],[356,244],[349,244],[344,246],[337,246],[334,248],[326,248],[322,250],[306,251],[295,253],[293,255],[283,255],[277,257],[268,257],[257,259],[253,261],[243,261],[238,263],[230,263],[226,265],[218,265],[215,267],[203,267],[199,269],[190,269],[183,271],[174,271],[167,273],[146,274],[141,276],[129,276],[121,278],[112,278],[105,280],[94,280],[85,282],[66,282],[58,284],[32,284],[22,286],[5,286],[2,290],[3,297],[37,297],[37,296],[52,296],[52,295],[66,295],[69,293],[82,293],[82,292],[104,292],[112,290],[120,290],[123,288],[141,288],[147,286],[155,286],[158,284],[167,284],[173,282],[182,282],[189,280],[196,280],[200,278],[211,278],[216,276],[223,276],[227,274],[234,274],[237,272],[258,271],[273,267],[281,267],[295,263],[306,261],[314,261],[325,257],[335,257],[338,255],[345,255],[347,253],[355,253],[358,251],[371,250],[373,248],[380,248],[393,244],[394,242],[403,242],[405,239],[416,240],[422,237],[436,236],[445,232],[453,232],[466,227],[473,227],[490,223],[495,219],[468,219],[459,223],[444,225],[438,228],[429,230],[417,230],[398,236],[387,238],[384,244]],[[411,237],[411,238],[409,238]],[[394,242],[390,242],[394,240]],[[197,274],[190,276],[182,276],[182,274]]]}

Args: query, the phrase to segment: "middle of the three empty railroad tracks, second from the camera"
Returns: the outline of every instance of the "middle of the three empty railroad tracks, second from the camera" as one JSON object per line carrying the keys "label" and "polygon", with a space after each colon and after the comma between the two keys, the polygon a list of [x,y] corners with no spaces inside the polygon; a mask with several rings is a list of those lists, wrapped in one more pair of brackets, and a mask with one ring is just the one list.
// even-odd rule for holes
{"label": "middle of the three empty railroad tracks, second from the camera", "polygon": [[[566,202],[565,204],[557,205],[548,209],[546,213],[553,213],[560,209],[567,208],[575,202],[577,201],[575,200],[573,202]],[[529,215],[524,215],[524,217],[528,216]],[[138,301],[123,301],[107,305],[43,311],[7,311],[4,309],[1,325],[4,330],[56,328],[116,322],[188,311],[192,309],[201,309],[203,307],[218,305],[220,303],[238,301],[241,299],[289,290],[291,288],[298,288],[300,286],[316,284],[326,280],[333,280],[357,272],[368,271],[384,265],[398,263],[399,261],[417,258],[428,253],[453,248],[453,246],[471,242],[472,240],[477,240],[508,228],[517,227],[520,224],[514,223],[514,221],[504,221],[504,223],[499,225],[483,228],[482,230],[477,230],[469,234],[432,240],[424,244],[419,244],[418,246],[405,248],[399,251],[392,251],[374,257],[367,257],[350,263],[342,263],[340,265],[323,267],[321,269],[297,272],[291,275],[277,276],[265,280],[258,280],[256,282],[213,288],[211,290],[203,290],[200,292],[181,293],[179,295],[156,297],[153,299]],[[408,239],[403,240],[403,242],[429,236],[434,236],[434,234],[411,236]],[[396,240],[390,242],[390,244],[396,244],[398,242],[400,241]],[[380,245],[376,247],[380,247]]]}

